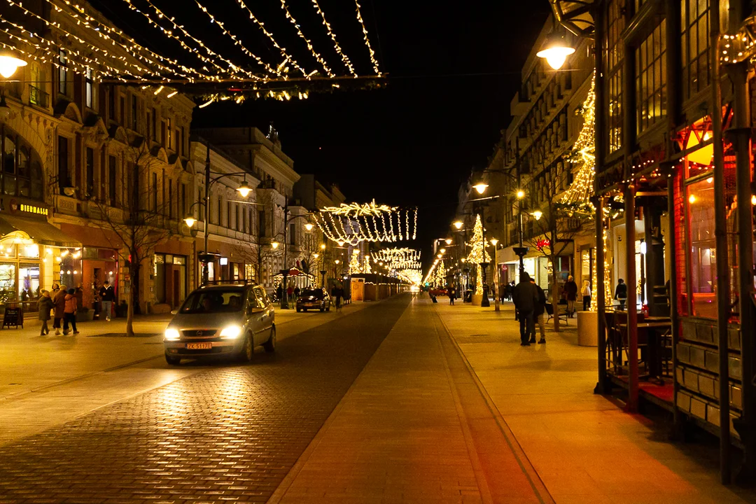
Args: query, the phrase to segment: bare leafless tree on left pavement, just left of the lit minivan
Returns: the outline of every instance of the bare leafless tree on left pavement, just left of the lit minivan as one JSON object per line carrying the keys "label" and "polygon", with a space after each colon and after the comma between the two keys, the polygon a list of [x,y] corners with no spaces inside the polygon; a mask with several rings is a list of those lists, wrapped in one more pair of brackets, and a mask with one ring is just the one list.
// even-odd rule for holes
{"label": "bare leafless tree on left pavement, just left of the lit minivan", "polygon": [[[104,231],[114,249],[119,250],[122,261],[129,261],[131,283],[126,295],[129,310],[126,316],[126,335],[134,335],[134,315],[140,313],[139,288],[141,267],[147,258],[153,258],[155,247],[178,229],[169,228],[166,202],[160,201],[157,187],[150,184],[150,173],[163,162],[150,153],[142,139],[125,150],[127,169],[122,177],[122,201],[108,202],[98,199],[91,188],[86,188],[90,208],[99,215],[93,221]],[[117,242],[117,243],[116,243]]]}

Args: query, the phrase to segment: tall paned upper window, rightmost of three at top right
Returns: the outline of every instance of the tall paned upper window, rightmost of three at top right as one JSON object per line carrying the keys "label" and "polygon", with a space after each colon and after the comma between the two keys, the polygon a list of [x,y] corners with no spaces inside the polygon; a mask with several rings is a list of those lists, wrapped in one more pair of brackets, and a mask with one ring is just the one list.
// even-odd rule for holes
{"label": "tall paned upper window, rightmost of three at top right", "polygon": [[680,0],[683,102],[703,91],[711,81],[708,13],[708,2]]}

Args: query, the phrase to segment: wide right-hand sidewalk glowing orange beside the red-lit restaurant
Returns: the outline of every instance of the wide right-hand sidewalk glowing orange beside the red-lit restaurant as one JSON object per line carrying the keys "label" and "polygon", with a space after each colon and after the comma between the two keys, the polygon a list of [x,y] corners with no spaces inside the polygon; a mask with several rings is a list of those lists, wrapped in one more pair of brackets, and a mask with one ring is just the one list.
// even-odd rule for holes
{"label": "wide right-hand sidewalk glowing orange beside the red-lit restaurant", "polygon": [[719,483],[715,458],[592,393],[596,348],[577,345],[575,320],[521,347],[510,303],[433,307],[556,502],[756,502]]}

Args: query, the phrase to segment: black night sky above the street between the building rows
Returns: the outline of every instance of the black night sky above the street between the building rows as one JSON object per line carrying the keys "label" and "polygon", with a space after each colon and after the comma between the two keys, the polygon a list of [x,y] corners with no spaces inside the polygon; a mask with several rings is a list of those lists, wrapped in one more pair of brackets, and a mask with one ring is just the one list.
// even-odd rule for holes
{"label": "black night sky above the street between the building rows", "polygon": [[[144,0],[132,0],[147,8]],[[139,42],[187,60],[177,45],[120,2],[92,2]],[[247,48],[272,64],[280,53],[237,5],[237,0],[200,0]],[[193,35],[234,63],[248,57],[225,39],[194,0],[153,0]],[[367,48],[354,0],[320,0],[358,73],[370,73]],[[249,2],[265,27],[295,59],[314,59],[283,16],[279,0]],[[289,0],[305,36],[336,73],[345,66],[327,39],[310,0]],[[251,125],[277,128],[283,151],[299,173],[336,183],[349,201],[418,207],[418,241],[407,246],[429,253],[454,218],[457,189],[472,167],[485,166],[500,130],[510,122],[509,104],[519,88],[519,70],[549,12],[547,0],[431,5],[431,2],[362,0],[370,42],[388,86],[372,91],[311,94],[308,100],[247,100],[195,110],[196,127]],[[194,60],[196,61],[196,60]],[[251,68],[252,65],[250,64]]]}

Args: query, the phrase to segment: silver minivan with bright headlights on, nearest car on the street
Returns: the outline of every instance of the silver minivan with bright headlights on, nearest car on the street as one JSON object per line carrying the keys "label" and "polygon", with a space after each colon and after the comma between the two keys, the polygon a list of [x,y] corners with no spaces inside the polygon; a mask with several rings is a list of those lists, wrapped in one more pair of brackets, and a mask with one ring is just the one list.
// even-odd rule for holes
{"label": "silver minivan with bright headlights on, nearest car on the street", "polygon": [[252,360],[255,347],[276,348],[275,311],[265,289],[253,283],[202,286],[187,297],[166,327],[166,362],[182,358]]}

